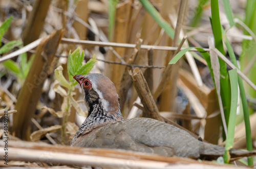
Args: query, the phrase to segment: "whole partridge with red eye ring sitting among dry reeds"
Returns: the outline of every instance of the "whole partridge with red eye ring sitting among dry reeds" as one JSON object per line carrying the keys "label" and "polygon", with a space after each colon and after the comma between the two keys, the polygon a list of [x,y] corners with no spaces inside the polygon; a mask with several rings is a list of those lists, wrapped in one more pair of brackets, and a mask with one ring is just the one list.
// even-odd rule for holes
{"label": "whole partridge with red eye ring sitting among dry reeds", "polygon": [[[114,84],[101,74],[76,75],[89,110],[70,146],[124,149],[164,156],[216,159],[224,147],[199,141],[186,131],[151,118],[123,120]],[[229,151],[231,157],[255,151]]]}

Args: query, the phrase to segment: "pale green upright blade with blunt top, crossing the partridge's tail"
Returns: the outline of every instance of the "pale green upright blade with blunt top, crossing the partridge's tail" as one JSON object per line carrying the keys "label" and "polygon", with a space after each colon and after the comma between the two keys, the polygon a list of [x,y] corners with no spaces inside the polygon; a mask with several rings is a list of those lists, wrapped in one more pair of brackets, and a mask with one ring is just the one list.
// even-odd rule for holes
{"label": "pale green upright blade with blunt top, crossing the partridge's tail", "polygon": [[238,74],[237,69],[232,69],[228,71],[230,87],[231,87],[231,105],[229,113],[229,123],[227,127],[227,139],[225,145],[225,153],[223,155],[225,163],[229,163],[230,154],[229,150],[233,148],[234,142],[234,127],[236,127],[236,116],[237,116],[237,106],[238,106]]}

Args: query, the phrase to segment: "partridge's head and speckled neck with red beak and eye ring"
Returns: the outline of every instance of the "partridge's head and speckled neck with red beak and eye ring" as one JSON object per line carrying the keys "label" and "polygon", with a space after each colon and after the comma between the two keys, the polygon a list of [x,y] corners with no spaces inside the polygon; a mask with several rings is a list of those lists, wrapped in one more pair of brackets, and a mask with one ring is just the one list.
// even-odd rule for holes
{"label": "partridge's head and speckled neck with red beak and eye ring", "polygon": [[123,120],[115,85],[102,74],[76,75],[81,86],[88,115],[70,145],[76,146],[83,137],[109,123]]}

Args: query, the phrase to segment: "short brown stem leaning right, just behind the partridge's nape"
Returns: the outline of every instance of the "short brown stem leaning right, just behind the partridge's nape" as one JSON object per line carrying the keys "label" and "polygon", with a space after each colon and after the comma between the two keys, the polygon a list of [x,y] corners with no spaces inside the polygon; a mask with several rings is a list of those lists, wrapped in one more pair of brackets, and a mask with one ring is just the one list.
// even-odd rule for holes
{"label": "short brown stem leaning right, just behind the partridge's nape", "polygon": [[[138,55],[140,53],[141,43],[142,43],[142,39],[139,39],[131,58],[127,61],[127,64],[135,64],[136,63]],[[133,68],[134,67],[125,66],[123,75],[122,75],[122,77],[119,81],[118,87],[117,87],[119,89],[118,94],[120,97],[121,110],[123,109],[124,103],[126,101],[127,92],[132,85],[132,79],[131,79],[131,76],[129,75],[129,70],[133,70]]]}

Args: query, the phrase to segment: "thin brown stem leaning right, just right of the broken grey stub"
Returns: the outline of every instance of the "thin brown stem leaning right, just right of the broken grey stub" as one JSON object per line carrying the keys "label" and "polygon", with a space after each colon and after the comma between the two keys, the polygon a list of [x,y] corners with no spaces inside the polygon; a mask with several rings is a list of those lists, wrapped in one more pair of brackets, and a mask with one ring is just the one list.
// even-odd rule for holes
{"label": "thin brown stem leaning right, just right of the broken grey stub", "polygon": [[[185,41],[185,38],[186,38],[186,36],[182,39],[182,41],[181,41],[181,43],[180,43],[180,45],[179,45],[177,51],[175,52],[175,54],[180,51],[181,46],[182,46],[182,44],[183,44],[184,41]],[[175,56],[175,55],[174,55],[174,56]],[[177,63],[176,63],[176,64],[177,64]],[[175,65],[176,65],[176,64],[175,64]],[[172,77],[170,77],[171,71],[172,71],[172,65],[168,65],[168,66],[166,67],[166,69],[164,70],[162,79],[161,79],[159,85],[157,86],[156,91],[154,92],[154,98],[155,98],[155,99],[157,99],[157,98],[159,97],[159,95],[162,93],[162,91],[163,91],[164,87],[166,86],[166,84],[168,83],[168,81],[172,78]],[[172,94],[173,94],[173,93],[172,93]]]}

